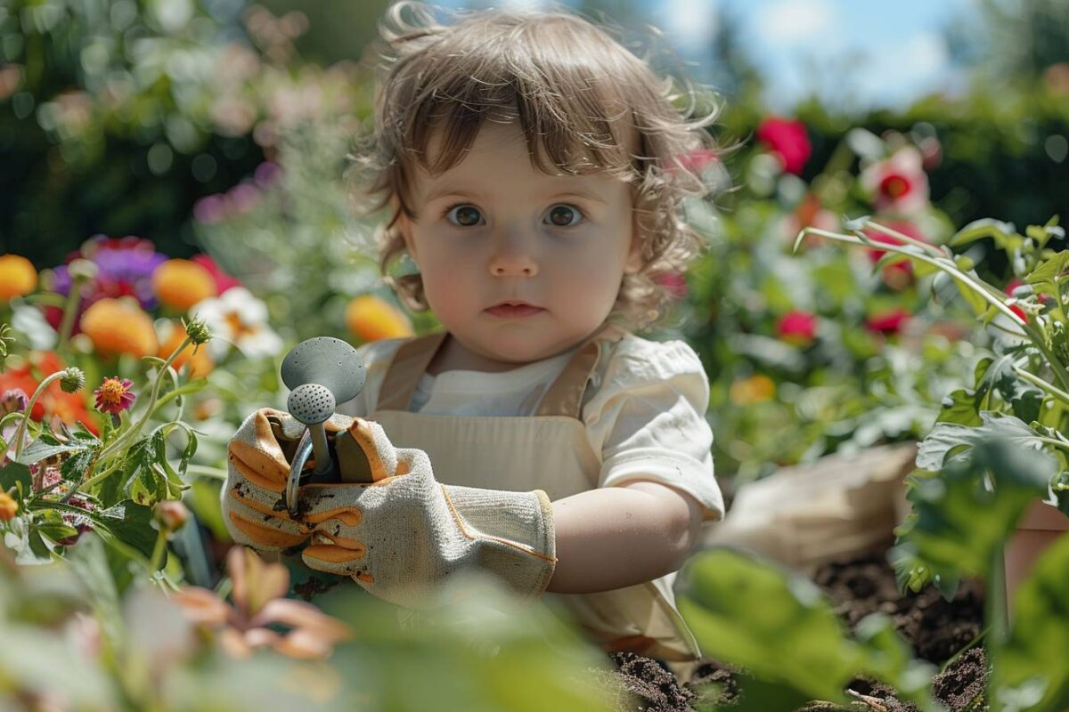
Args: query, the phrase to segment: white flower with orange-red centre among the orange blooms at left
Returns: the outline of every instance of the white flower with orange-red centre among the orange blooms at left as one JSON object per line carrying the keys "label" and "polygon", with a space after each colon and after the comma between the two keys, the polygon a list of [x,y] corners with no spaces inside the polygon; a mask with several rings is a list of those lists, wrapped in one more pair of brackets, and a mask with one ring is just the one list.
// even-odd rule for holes
{"label": "white flower with orange-red centre among the orange blooms at left", "polygon": [[250,359],[275,355],[282,349],[282,338],[267,325],[267,305],[245,287],[231,287],[197,302],[189,316],[204,319],[211,329],[207,348],[216,361],[230,352],[231,344]]}

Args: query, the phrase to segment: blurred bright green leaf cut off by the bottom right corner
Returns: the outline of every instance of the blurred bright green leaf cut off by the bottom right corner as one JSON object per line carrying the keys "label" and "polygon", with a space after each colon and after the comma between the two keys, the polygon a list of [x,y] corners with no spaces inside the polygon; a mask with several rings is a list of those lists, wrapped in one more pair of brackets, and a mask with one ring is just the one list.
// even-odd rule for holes
{"label": "blurred bright green leaf cut off by the bottom right corner", "polygon": [[[1017,589],[1009,639],[992,651],[993,709],[1069,709],[1069,536],[1062,535],[1037,559]],[[1060,651],[1060,652],[1058,652]],[[1026,708],[1012,700],[1038,695]]]}

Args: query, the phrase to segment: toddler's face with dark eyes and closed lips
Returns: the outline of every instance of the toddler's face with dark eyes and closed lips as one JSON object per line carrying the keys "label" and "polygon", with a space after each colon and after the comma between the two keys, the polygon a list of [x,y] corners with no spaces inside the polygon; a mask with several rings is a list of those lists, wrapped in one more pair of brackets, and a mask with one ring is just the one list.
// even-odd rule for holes
{"label": "toddler's face with dark eyes and closed lips", "polygon": [[[431,143],[431,155],[436,142]],[[493,369],[561,353],[592,333],[640,267],[631,190],[605,174],[547,175],[513,122],[486,122],[470,153],[413,180],[400,228],[427,300],[464,365]]]}

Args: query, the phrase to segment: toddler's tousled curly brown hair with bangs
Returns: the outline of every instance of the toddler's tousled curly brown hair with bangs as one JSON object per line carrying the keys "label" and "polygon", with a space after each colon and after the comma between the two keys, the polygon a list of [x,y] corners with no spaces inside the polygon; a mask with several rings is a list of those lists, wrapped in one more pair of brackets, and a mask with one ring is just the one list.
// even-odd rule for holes
{"label": "toddler's tousled curly brown hair with bangs", "polygon": [[[701,165],[718,156],[707,130],[715,108],[695,116],[690,84],[677,91],[607,29],[567,12],[446,13],[399,2],[379,34],[374,130],[350,158],[358,194],[370,199],[365,208],[390,211],[377,236],[379,265],[407,306],[428,308],[420,275],[394,274],[407,254],[398,221],[416,216],[415,169],[448,171],[483,121],[507,112],[539,170],[604,172],[631,185],[642,268],[624,275],[610,319],[644,328],[663,316],[671,295],[663,278],[682,272],[704,244],[683,205],[713,192]],[[678,109],[680,99],[688,106]],[[429,157],[436,131],[440,148]]]}

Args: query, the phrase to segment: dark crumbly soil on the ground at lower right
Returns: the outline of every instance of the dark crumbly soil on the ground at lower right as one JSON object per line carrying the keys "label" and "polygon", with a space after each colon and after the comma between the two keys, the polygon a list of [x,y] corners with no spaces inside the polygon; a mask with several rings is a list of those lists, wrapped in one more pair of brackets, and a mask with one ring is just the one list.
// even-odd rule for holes
{"label": "dark crumbly soil on the ground at lower right", "polygon": [[[903,596],[882,553],[824,566],[814,581],[832,598],[836,613],[851,630],[868,614],[882,612],[892,617],[917,658],[936,665],[972,643],[982,627],[983,595],[978,585],[962,584],[952,601],[945,601],[931,588]],[[654,660],[634,653],[609,656],[617,670],[607,675],[621,691],[620,710],[730,709],[739,698],[740,671],[716,661],[701,661],[691,681],[680,685],[676,676]],[[979,712],[986,709],[982,695],[987,676],[983,650],[973,648],[932,679],[932,691],[950,712]],[[893,689],[872,680],[851,681],[848,694],[855,700],[848,707],[817,700],[795,712],[917,712],[914,705],[900,701]]]}

